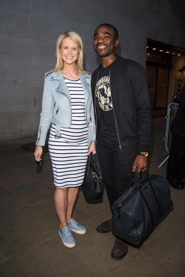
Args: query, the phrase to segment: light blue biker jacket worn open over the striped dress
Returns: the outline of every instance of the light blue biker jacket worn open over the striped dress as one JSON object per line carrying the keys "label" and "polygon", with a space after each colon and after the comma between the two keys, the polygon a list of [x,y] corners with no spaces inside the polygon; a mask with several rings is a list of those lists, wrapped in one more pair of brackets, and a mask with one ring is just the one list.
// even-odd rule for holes
{"label": "light blue biker jacket worn open over the striped dress", "polygon": [[[89,147],[91,141],[95,141],[96,138],[94,108],[90,87],[91,77],[79,74],[79,78],[85,96],[86,121],[87,125],[89,125]],[[69,128],[71,126],[71,119],[71,96],[61,71],[47,72],[45,74],[44,92],[42,96],[42,112],[40,114],[40,125],[36,145],[45,145],[46,135],[51,122],[56,125],[55,135],[60,136],[60,127]]]}

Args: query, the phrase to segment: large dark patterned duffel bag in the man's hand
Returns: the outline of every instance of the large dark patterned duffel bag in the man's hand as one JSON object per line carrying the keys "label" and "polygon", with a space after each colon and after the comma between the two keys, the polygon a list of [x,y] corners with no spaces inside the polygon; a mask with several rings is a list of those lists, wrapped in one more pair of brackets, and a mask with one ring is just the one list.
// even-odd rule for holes
{"label": "large dark patterned duffel bag in the man's hand", "polygon": [[[137,174],[138,182],[134,185]],[[152,226],[173,205],[169,196],[169,182],[158,175],[147,175],[141,179],[136,168],[130,188],[112,204],[112,232],[133,243],[140,242]]]}

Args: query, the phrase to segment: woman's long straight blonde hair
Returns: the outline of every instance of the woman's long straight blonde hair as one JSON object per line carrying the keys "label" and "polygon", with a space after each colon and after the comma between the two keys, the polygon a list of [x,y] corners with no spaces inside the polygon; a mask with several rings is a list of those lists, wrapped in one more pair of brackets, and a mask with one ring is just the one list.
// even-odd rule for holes
{"label": "woman's long straight blonde hair", "polygon": [[61,35],[59,35],[59,37],[57,39],[57,43],[56,43],[57,62],[56,62],[55,68],[53,69],[53,72],[58,72],[64,68],[64,62],[63,62],[62,57],[59,52],[59,49],[61,48],[62,41],[64,38],[71,38],[71,40],[73,40],[78,45],[79,54],[78,54],[78,58],[76,60],[77,72],[88,75],[88,73],[83,70],[84,53],[83,53],[82,39],[76,32],[73,32],[73,31],[64,32]]}

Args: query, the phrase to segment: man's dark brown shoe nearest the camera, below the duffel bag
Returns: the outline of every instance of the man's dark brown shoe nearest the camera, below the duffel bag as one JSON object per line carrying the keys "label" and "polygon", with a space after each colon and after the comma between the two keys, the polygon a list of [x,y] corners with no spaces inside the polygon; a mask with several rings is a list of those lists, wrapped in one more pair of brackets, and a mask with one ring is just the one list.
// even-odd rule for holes
{"label": "man's dark brown shoe nearest the camera, below the duffel bag", "polygon": [[125,242],[123,242],[121,239],[117,237],[111,252],[112,259],[121,260],[127,254],[127,251],[128,251],[128,244],[126,244]]}

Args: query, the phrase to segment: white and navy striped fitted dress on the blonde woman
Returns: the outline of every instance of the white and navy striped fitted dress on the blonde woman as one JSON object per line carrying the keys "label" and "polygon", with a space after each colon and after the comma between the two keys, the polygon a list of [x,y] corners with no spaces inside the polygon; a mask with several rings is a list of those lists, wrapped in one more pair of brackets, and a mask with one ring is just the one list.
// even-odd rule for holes
{"label": "white and navy striped fitted dress on the blonde woman", "polygon": [[56,188],[80,186],[88,158],[88,125],[82,84],[80,79],[74,81],[64,77],[64,80],[71,95],[71,126],[60,127],[61,138],[55,138],[55,125],[51,124],[48,142]]}

